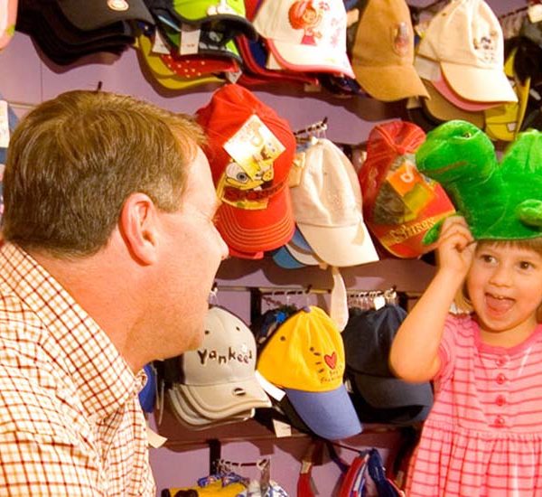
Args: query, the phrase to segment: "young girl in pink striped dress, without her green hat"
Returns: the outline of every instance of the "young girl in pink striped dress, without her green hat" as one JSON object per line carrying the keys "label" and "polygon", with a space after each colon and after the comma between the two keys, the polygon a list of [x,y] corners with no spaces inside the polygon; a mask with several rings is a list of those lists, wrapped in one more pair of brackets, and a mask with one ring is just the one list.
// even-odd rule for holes
{"label": "young girl in pink striped dress, without her green hat", "polygon": [[[390,353],[397,376],[435,385],[406,495],[542,496],[542,238],[474,243],[453,216],[437,258]],[[472,314],[449,314],[459,291]]]}

